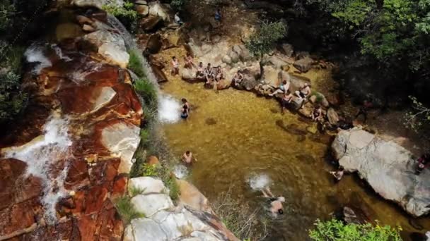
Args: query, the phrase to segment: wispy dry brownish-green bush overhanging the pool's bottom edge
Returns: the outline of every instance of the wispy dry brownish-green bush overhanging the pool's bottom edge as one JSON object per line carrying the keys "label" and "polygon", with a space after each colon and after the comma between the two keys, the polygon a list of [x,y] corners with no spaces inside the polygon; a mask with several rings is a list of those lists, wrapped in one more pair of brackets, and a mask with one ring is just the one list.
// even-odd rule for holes
{"label": "wispy dry brownish-green bush overhanging the pool's bottom edge", "polygon": [[211,208],[226,228],[241,240],[265,240],[268,235],[269,222],[259,218],[260,209],[252,210],[248,204],[242,204],[239,199],[231,197],[231,188],[228,192],[219,194],[211,202]]}

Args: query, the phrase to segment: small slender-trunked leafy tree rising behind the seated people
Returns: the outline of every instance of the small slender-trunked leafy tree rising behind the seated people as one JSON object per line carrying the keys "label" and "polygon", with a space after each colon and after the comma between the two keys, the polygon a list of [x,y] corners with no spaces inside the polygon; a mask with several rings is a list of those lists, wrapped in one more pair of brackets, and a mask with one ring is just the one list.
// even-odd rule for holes
{"label": "small slender-trunked leafy tree rising behind the seated people", "polygon": [[260,59],[260,73],[263,74],[262,58],[269,54],[275,47],[275,44],[285,37],[288,28],[281,22],[264,22],[259,30],[254,32],[245,42],[245,46],[251,54]]}

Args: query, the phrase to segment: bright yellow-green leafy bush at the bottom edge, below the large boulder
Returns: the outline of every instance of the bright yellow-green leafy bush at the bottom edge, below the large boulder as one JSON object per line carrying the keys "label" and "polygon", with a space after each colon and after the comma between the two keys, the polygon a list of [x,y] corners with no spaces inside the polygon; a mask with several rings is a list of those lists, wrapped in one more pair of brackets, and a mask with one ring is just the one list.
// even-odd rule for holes
{"label": "bright yellow-green leafy bush at the bottom edge, below the large boulder", "polygon": [[330,221],[317,220],[309,236],[315,241],[400,241],[400,230],[400,227],[391,228],[378,223],[375,226],[371,223],[345,224],[333,218]]}

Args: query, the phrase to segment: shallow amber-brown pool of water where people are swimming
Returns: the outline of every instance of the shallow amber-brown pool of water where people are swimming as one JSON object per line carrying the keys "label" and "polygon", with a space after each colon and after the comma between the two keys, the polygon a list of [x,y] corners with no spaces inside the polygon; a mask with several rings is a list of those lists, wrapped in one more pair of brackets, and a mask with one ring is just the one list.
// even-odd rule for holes
{"label": "shallow amber-brown pool of water where people are swimming", "polygon": [[[306,240],[316,218],[329,218],[342,205],[359,207],[371,220],[417,231],[397,206],[377,197],[355,175],[335,184],[328,173],[333,167],[325,161],[327,145],[306,131],[314,124],[291,113],[282,115],[276,101],[234,89],[216,93],[178,78],[163,89],[194,106],[189,120],[165,124],[164,129],[176,156],[190,149],[199,160],[190,180],[209,200],[233,187],[234,196],[261,206],[257,190],[265,185],[286,198],[286,215],[274,221],[268,240]],[[429,230],[428,218],[419,223]]]}

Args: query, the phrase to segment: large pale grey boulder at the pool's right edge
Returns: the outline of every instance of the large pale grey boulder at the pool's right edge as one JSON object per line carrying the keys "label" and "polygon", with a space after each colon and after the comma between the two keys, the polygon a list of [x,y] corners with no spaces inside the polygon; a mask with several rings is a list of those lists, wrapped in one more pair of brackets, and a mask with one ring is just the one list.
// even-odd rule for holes
{"label": "large pale grey boulder at the pool's right edge", "polygon": [[429,214],[430,171],[415,175],[416,163],[407,149],[354,128],[340,131],[332,150],[346,171],[358,172],[383,198],[413,216]]}

